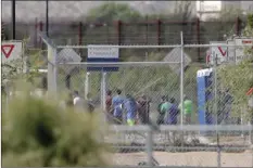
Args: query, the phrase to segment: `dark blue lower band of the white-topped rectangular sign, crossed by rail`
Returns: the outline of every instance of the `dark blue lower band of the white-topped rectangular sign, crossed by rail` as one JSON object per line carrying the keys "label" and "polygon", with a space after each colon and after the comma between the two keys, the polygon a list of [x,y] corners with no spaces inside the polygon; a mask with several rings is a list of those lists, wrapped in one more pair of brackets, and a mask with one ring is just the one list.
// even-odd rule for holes
{"label": "dark blue lower band of the white-topped rectangular sign, crossed by rail", "polygon": [[[105,59],[105,57],[87,57],[87,62],[90,62],[90,63],[106,63],[106,62],[118,62],[118,59],[115,59],[115,57],[110,57],[110,59]],[[88,72],[118,72],[118,67],[115,66],[115,67],[103,67],[102,65],[100,65],[99,67],[87,67],[87,70]]]}

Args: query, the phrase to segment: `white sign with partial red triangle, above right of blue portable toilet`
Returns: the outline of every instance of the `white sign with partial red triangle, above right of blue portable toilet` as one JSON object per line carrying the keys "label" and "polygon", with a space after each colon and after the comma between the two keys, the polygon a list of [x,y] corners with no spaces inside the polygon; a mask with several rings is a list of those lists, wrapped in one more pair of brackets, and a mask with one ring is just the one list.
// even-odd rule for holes
{"label": "white sign with partial red triangle, above right of blue portable toilet", "polygon": [[211,41],[210,44],[218,44],[218,47],[211,47],[211,53],[210,53],[210,64],[214,64],[214,57],[217,59],[217,64],[222,64],[224,62],[227,62],[227,47],[226,41]]}

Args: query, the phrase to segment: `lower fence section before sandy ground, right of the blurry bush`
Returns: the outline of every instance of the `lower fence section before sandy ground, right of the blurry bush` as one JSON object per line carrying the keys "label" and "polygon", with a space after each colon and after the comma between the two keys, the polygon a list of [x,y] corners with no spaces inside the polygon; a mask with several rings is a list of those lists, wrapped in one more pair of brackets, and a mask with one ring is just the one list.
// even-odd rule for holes
{"label": "lower fence section before sandy ground, right of the blurry bush", "polygon": [[[237,137],[243,130],[246,137]],[[117,167],[252,167],[251,131],[251,126],[232,125],[162,126],[160,131],[117,126],[111,127],[112,134],[105,142],[115,148],[112,160]]]}

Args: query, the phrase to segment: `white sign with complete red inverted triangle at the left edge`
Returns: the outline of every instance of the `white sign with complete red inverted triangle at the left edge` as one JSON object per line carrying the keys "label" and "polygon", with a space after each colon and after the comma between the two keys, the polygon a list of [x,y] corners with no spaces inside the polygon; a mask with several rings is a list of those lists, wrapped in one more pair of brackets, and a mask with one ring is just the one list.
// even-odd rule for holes
{"label": "white sign with complete red inverted triangle at the left edge", "polygon": [[22,59],[23,47],[22,41],[2,41],[1,56],[2,63]]}

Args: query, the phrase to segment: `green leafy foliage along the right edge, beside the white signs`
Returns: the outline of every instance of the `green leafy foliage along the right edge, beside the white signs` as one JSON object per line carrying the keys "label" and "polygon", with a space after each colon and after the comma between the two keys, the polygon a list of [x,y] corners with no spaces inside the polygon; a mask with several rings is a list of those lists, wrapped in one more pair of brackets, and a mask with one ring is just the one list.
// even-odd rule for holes
{"label": "green leafy foliage along the right edge, beside the white signs", "polygon": [[[243,31],[245,37],[253,37],[253,15],[248,16],[248,25]],[[222,66],[218,70],[220,78],[220,87],[229,88],[235,99],[233,113],[240,114],[241,111],[246,111],[249,96],[246,92],[253,87],[253,50],[250,47],[245,47],[244,54],[249,55],[248,59],[240,62],[238,65]],[[249,109],[245,115],[248,119],[249,115],[252,115],[252,109]]]}

